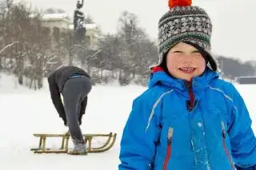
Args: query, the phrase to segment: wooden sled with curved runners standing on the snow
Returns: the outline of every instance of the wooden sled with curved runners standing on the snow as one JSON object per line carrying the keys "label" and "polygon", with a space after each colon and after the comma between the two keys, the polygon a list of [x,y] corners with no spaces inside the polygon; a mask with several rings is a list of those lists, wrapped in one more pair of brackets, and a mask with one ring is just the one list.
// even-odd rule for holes
{"label": "wooden sled with curved runners standing on the snow", "polygon": [[[69,140],[70,134],[66,132],[66,134],[33,134],[36,137],[39,137],[39,147],[31,148],[31,151],[34,153],[67,153],[69,150]],[[84,140],[87,146],[87,152],[106,152],[110,148],[113,147],[114,142],[116,140],[116,133],[110,132],[110,134],[83,134]],[[46,148],[46,138],[47,137],[61,137],[62,145],[59,149]],[[92,140],[94,137],[108,137],[105,144],[99,147],[92,147]]]}

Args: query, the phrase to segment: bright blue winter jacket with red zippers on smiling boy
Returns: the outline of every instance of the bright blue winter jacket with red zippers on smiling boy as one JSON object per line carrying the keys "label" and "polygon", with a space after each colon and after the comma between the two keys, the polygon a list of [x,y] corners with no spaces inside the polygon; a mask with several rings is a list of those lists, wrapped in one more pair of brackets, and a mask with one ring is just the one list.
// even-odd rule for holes
{"label": "bright blue winter jacket with red zippers on smiling boy", "polygon": [[252,121],[234,85],[206,69],[191,87],[162,71],[151,75],[126,122],[119,170],[232,170],[234,164],[256,164]]}

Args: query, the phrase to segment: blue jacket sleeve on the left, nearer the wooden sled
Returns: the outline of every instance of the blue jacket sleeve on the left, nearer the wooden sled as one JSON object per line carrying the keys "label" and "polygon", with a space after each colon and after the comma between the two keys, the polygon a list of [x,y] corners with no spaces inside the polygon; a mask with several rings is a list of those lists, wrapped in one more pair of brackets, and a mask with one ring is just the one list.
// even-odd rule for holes
{"label": "blue jacket sleeve on the left, nearer the wooden sled", "polygon": [[153,99],[142,97],[134,100],[122,133],[119,170],[153,169],[156,143],[161,132],[158,126],[161,111],[158,102],[154,105]]}

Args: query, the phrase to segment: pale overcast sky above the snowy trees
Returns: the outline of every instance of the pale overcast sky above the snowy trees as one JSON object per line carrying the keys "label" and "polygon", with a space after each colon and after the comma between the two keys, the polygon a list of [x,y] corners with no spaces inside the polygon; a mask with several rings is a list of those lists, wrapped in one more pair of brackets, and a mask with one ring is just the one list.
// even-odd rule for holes
{"label": "pale overcast sky above the snowy trees", "polygon": [[[71,16],[77,0],[26,0],[39,8],[56,7]],[[123,10],[138,15],[151,38],[157,38],[158,19],[168,10],[168,0],[85,0],[83,11],[90,14],[102,32],[114,33]],[[256,60],[255,0],[194,0],[202,6],[214,25],[214,53],[237,57],[242,61]]]}

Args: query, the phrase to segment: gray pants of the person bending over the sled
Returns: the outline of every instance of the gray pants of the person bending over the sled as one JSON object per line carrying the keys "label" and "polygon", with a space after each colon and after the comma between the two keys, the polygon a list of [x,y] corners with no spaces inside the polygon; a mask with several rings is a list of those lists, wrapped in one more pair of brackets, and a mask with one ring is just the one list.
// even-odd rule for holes
{"label": "gray pants of the person bending over the sled", "polygon": [[90,93],[91,88],[91,81],[88,77],[74,77],[66,81],[62,91],[66,121],[74,145],[85,144],[78,117],[81,108],[80,104]]}

